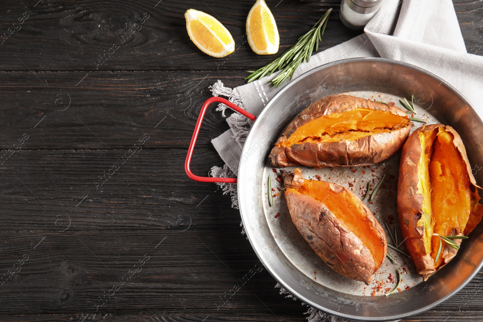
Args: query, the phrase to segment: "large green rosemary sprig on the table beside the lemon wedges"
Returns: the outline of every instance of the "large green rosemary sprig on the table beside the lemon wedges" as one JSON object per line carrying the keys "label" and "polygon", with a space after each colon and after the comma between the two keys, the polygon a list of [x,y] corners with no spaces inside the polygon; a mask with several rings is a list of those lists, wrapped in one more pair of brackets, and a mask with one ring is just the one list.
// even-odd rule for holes
{"label": "large green rosemary sprig on the table beside the lemon wedges", "polygon": [[315,45],[315,51],[319,48],[319,42],[322,40],[322,35],[326,29],[328,17],[332,9],[327,10],[327,12],[322,16],[322,18],[317,21],[315,26],[309,30],[305,35],[298,38],[295,45],[290,47],[289,50],[284,52],[282,56],[273,60],[266,66],[251,72],[245,79],[248,83],[255,81],[256,79],[262,78],[264,76],[271,75],[277,70],[282,70],[277,76],[275,76],[270,82],[272,86],[278,87],[285,82],[288,78],[292,79],[292,76],[297,69],[298,65],[304,61],[309,61],[310,56],[312,56],[313,47]]}

